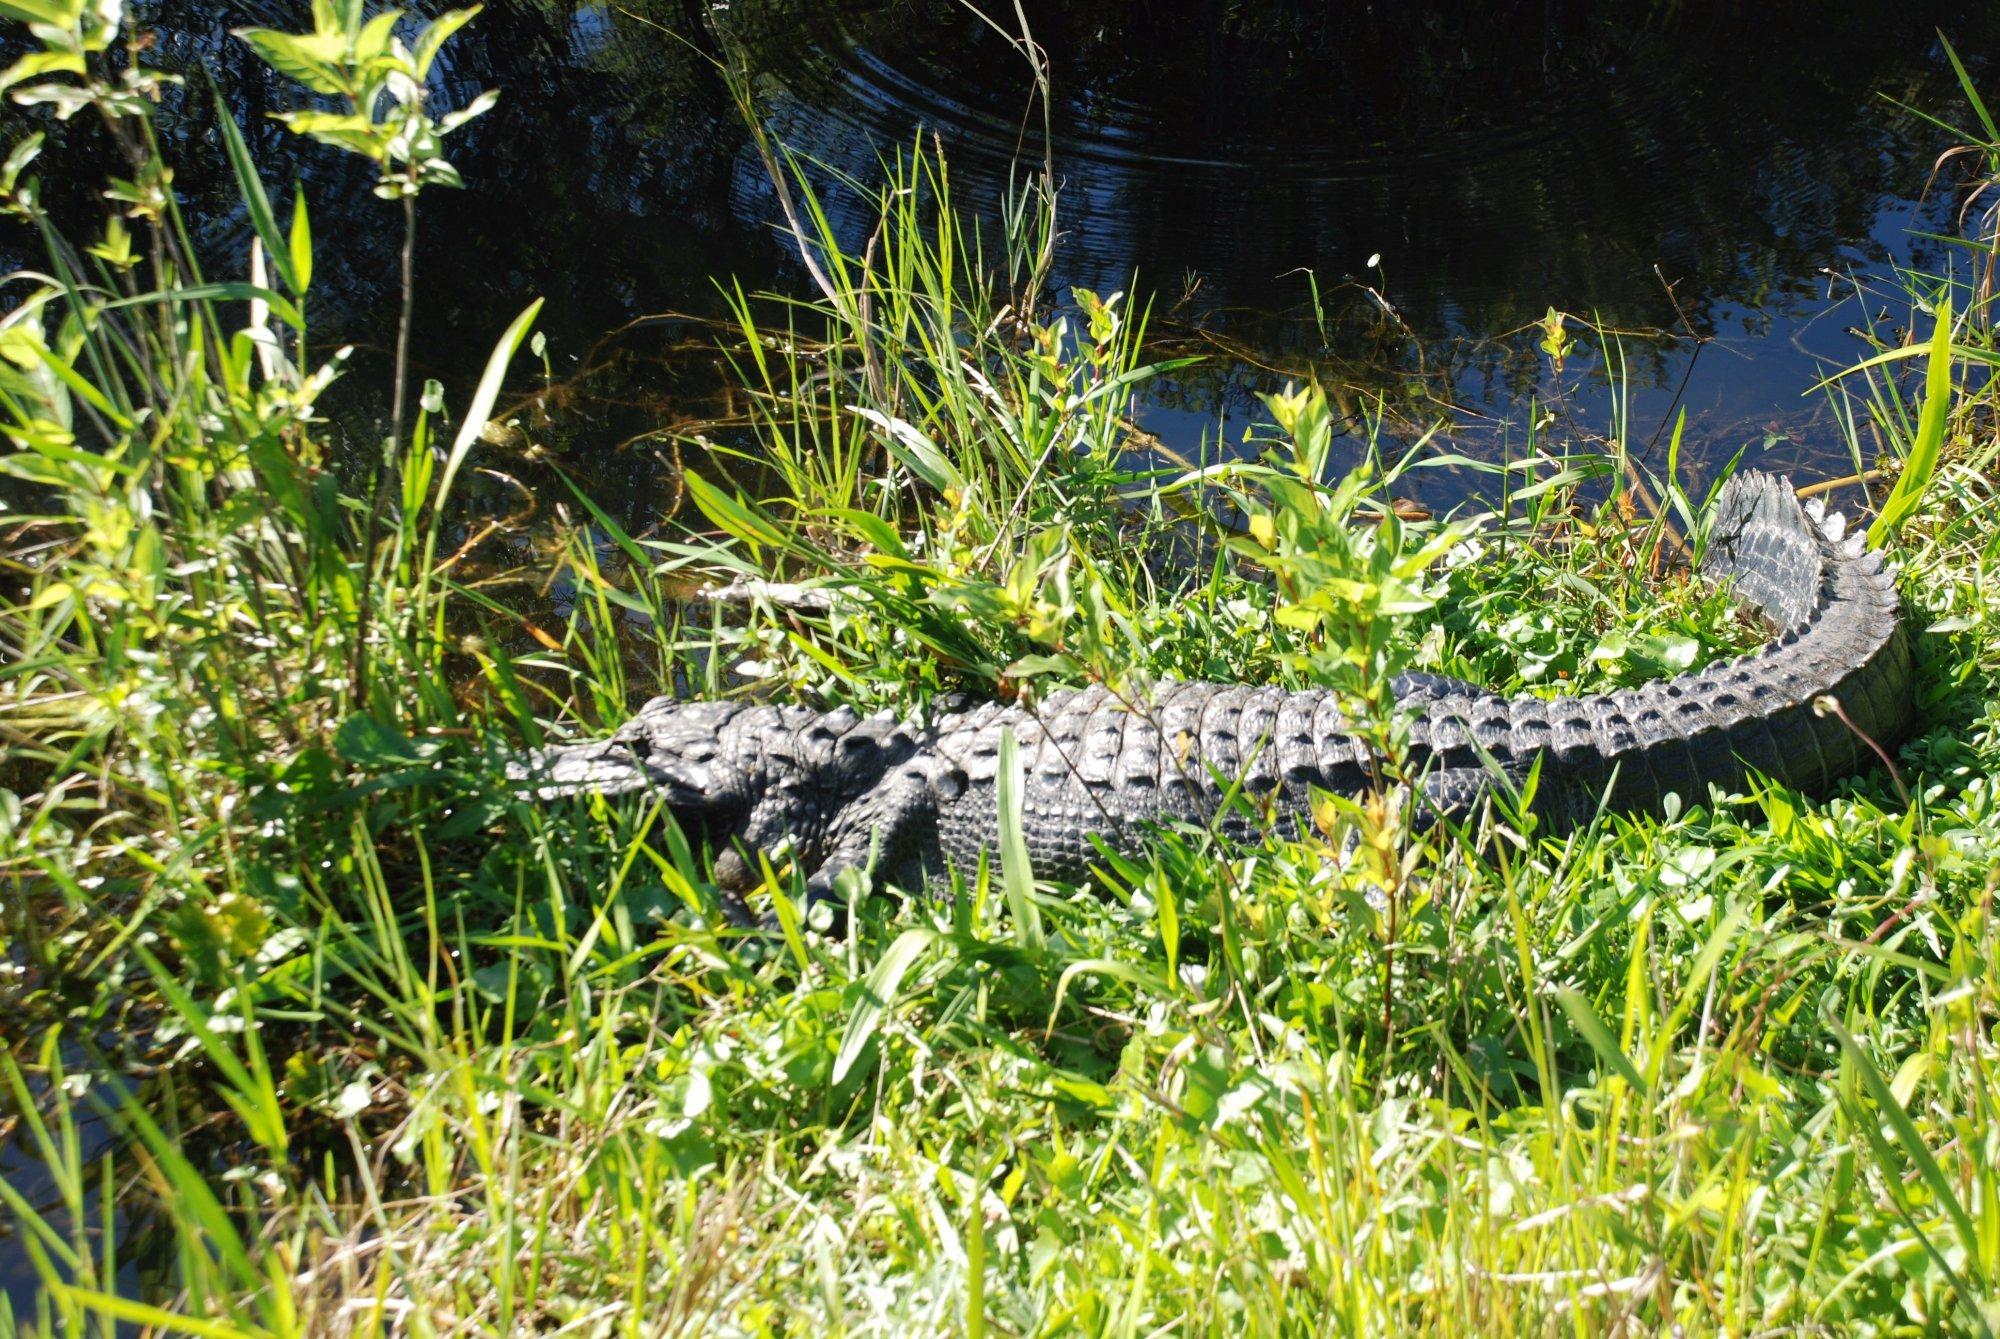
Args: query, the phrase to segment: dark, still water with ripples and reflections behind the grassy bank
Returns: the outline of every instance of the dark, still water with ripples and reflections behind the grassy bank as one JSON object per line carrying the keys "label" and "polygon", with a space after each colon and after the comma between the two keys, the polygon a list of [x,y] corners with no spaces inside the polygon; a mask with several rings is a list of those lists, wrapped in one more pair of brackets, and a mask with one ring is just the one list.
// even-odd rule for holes
{"label": "dark, still water with ripples and reflections behind the grassy bank", "polygon": [[[1696,462],[1748,448],[1844,472],[1802,392],[1868,352],[1852,328],[1888,312],[1894,338],[1902,306],[1836,304],[1850,276],[1948,264],[1910,230],[1952,232],[1960,204],[1952,172],[1920,200],[1952,140],[1896,102],[1970,120],[1938,34],[1976,76],[2000,52],[1990,4],[978,4],[992,22],[962,0],[490,4],[440,66],[446,104],[502,104],[456,142],[468,188],[424,198],[418,372],[462,388],[546,296],[560,394],[536,456],[646,524],[676,496],[658,434],[700,418],[716,376],[706,332],[662,314],[716,314],[718,274],[804,286],[712,58],[740,52],[778,136],[864,182],[936,136],[960,204],[992,218],[1044,152],[1030,66],[1000,32],[1024,18],[1050,62],[1058,288],[1134,290],[1164,340],[1212,354],[1148,400],[1170,446],[1238,440],[1256,394],[1304,374],[1380,396],[1406,430],[1448,416],[1474,452],[1518,446],[1550,398],[1602,434],[1596,342],[1560,378],[1534,348],[1560,308],[1628,332],[1632,442],[1686,408]],[[398,220],[354,164],[262,118],[296,94],[228,38],[302,8],[150,18],[162,60],[216,76],[268,174],[306,178],[316,322],[362,346],[354,418],[380,412]],[[230,250],[248,230],[208,116],[188,108],[180,184]],[[858,198],[832,208],[866,234]],[[532,462],[500,456],[546,496]]]}

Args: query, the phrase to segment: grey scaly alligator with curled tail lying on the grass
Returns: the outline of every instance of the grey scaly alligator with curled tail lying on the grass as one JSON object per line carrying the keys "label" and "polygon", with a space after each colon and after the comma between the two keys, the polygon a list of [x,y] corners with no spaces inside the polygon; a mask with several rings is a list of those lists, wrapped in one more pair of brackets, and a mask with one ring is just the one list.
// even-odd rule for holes
{"label": "grey scaly alligator with curled tail lying on the grass", "polygon": [[[1754,775],[1824,793],[1888,761],[1914,713],[1894,574],[1846,518],[1790,480],[1744,472],[1718,494],[1700,562],[1770,640],[1748,656],[1640,687],[1502,695],[1402,673],[1408,775],[1430,821],[1526,787],[1538,831],[1604,809],[1660,813]],[[848,869],[904,889],[994,859],[1012,733],[1032,871],[1084,881],[1096,843],[1142,849],[1162,823],[1244,839],[1260,815],[1302,829],[1314,791],[1362,795],[1380,767],[1332,689],[1162,681],[1142,699],[1104,685],[1038,703],[986,701],[930,721],[854,709],[656,697],[610,739],[542,749],[516,771],[538,797],[646,791],[716,851],[716,883],[746,891],[756,859],[790,857],[810,899]]]}

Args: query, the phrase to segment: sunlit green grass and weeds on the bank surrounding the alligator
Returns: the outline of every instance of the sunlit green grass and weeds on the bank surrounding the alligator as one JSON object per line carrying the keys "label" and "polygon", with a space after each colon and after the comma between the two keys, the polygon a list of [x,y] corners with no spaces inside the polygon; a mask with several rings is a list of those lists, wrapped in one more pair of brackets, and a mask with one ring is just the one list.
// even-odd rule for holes
{"label": "sunlit green grass and weeds on the bank surrounding the alligator", "polygon": [[[112,122],[142,158],[148,116]],[[904,709],[1324,681],[1394,779],[1398,668],[1582,691],[1754,640],[1676,576],[1672,466],[1672,526],[1632,462],[1540,440],[1494,514],[1396,520],[1442,448],[1342,476],[1310,388],[1242,458],[1146,458],[1144,314],[1042,300],[1050,202],[982,256],[942,164],[888,172],[866,256],[794,182],[828,290],[738,304],[754,426],[690,446],[758,486],[690,478],[702,532],[668,540],[592,510],[540,636],[458,584],[450,496],[532,316],[462,414],[422,400],[370,504],[284,320],[310,230],[264,206],[266,294],[196,274],[170,200],[130,270],[48,234],[0,318],[34,500],[0,594],[0,1135],[50,1181],[0,1189],[46,1285],[0,1331],[2000,1325],[1978,292],[1936,444],[1900,364],[1836,388],[1930,474],[1886,536],[1922,630],[1908,799],[1878,773],[1546,841],[1422,835],[1388,789],[1324,839],[1168,833],[1092,889],[1004,857],[838,929],[780,865],[770,937],[644,801],[510,795],[506,753],[676,679]],[[840,596],[684,608],[690,572]]]}

